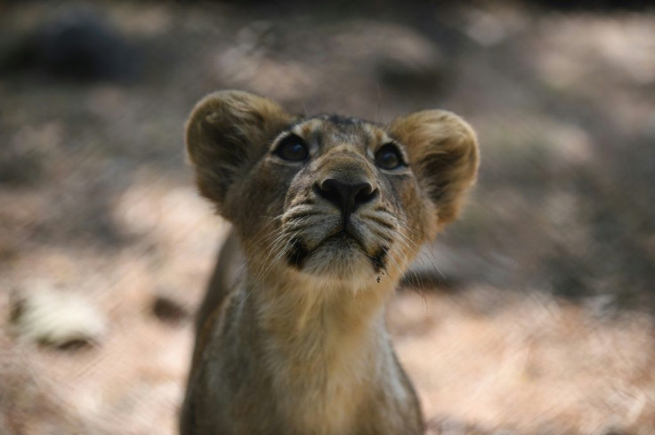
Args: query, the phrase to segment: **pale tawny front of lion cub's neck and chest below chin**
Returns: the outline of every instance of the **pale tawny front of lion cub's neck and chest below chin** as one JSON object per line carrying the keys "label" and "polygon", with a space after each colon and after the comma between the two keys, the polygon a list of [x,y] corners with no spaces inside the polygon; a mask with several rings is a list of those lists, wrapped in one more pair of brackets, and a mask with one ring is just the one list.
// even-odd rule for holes
{"label": "pale tawny front of lion cub's neck and chest below chin", "polygon": [[280,410],[300,433],[345,433],[384,376],[392,283],[355,289],[291,278],[259,286],[251,297]]}

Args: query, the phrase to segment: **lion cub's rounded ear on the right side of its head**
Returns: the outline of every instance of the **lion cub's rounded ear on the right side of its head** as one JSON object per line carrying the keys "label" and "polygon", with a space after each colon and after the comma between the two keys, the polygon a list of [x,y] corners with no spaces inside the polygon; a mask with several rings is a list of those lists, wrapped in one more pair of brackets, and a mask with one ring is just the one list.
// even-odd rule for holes
{"label": "lion cub's rounded ear on the right side of its head", "polygon": [[478,170],[473,128],[453,113],[425,110],[396,119],[391,133],[408,147],[409,165],[435,205],[439,228],[454,221]]}

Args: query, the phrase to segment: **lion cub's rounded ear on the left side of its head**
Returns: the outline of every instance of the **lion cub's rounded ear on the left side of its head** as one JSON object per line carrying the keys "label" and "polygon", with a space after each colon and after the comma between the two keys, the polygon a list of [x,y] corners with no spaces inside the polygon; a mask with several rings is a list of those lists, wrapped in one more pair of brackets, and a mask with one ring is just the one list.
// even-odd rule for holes
{"label": "lion cub's rounded ear on the left side of its head", "polygon": [[186,145],[200,193],[222,210],[230,185],[293,121],[274,102],[242,91],[210,93],[191,111]]}

